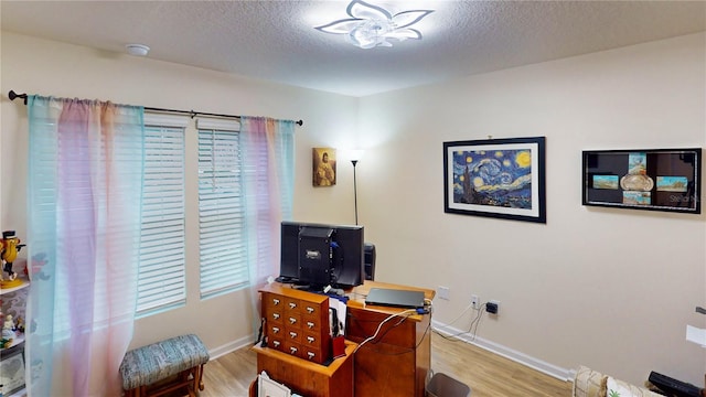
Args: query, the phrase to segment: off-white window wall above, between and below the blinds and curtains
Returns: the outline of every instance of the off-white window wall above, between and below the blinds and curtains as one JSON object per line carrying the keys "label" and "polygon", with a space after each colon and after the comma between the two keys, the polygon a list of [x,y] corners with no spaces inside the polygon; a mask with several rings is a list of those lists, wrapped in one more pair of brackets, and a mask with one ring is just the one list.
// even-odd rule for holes
{"label": "off-white window wall above, between and below the blinds and curtains", "polygon": [[[268,116],[303,120],[297,127],[297,202],[311,187],[311,147],[340,146],[354,136],[357,100],[309,89],[255,82],[217,72],[99,52],[92,49],[2,32],[2,133],[0,135],[0,186],[3,204],[0,225],[17,228],[26,238],[26,107],[7,93],[98,98],[149,107],[205,112]],[[325,137],[325,138],[317,138]],[[194,143],[195,136],[188,137]],[[346,179],[343,169],[341,180]],[[192,176],[193,178],[193,176]],[[189,182],[189,181],[186,181]],[[188,183],[188,186],[194,186]],[[352,192],[352,190],[350,191]],[[188,202],[195,190],[188,191]],[[352,193],[344,189],[319,191],[328,213],[338,205],[352,207]],[[308,201],[306,198],[304,201]],[[335,203],[339,203],[338,205]],[[307,205],[304,205],[307,207]],[[319,218],[325,218],[322,211]],[[188,214],[188,219],[195,214]],[[352,217],[351,217],[352,219]],[[352,222],[352,221],[351,221]],[[189,228],[192,237],[197,230]],[[196,243],[193,239],[192,243]],[[26,253],[26,251],[23,251]],[[216,354],[252,343],[250,304],[246,291],[200,301],[197,291],[197,246],[188,246],[188,304],[137,322],[132,346],[176,334],[197,332]]]}

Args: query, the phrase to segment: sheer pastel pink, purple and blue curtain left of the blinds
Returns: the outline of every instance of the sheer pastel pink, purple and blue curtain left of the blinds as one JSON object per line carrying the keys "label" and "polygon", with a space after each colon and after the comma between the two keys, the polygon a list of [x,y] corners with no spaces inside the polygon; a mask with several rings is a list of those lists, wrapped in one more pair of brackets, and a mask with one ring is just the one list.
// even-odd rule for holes
{"label": "sheer pastel pink, purple and blue curtain left of the blinds", "polygon": [[33,96],[28,316],[32,396],[119,396],[132,337],[142,109]]}

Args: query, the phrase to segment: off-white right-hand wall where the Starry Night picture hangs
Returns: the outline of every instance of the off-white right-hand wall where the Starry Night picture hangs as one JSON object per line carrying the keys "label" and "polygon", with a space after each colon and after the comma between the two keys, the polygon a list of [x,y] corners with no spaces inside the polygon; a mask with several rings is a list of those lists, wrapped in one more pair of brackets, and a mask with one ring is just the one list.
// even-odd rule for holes
{"label": "off-white right-hand wall where the Starry Night picture hangs", "polygon": [[[582,206],[581,150],[704,147],[705,44],[688,35],[363,98],[360,217],[377,279],[449,287],[440,323],[472,293],[501,301],[479,339],[557,375],[584,364],[702,385],[706,350],[685,328],[705,324],[705,215]],[[546,225],[443,213],[442,142],[488,136],[546,137]]]}

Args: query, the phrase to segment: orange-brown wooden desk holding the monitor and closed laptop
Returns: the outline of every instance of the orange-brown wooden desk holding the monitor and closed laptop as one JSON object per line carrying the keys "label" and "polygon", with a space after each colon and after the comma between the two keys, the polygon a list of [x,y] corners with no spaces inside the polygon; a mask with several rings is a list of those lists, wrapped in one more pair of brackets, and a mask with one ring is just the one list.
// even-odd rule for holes
{"label": "orange-brown wooden desk holding the monitor and closed laptop", "polygon": [[[431,367],[430,314],[399,316],[386,322],[378,336],[377,326],[404,309],[365,304],[371,288],[419,290],[434,299],[435,291],[366,280],[347,291],[346,356],[322,366],[301,357],[268,347],[253,347],[257,353],[258,374],[266,371],[270,378],[307,397],[424,397],[427,373]],[[275,283],[260,290],[311,301],[309,292],[293,291]],[[319,299],[321,296],[315,296]],[[328,301],[320,302],[322,307]],[[328,305],[327,305],[328,307]],[[328,310],[328,309],[327,309]],[[325,324],[328,332],[328,323]],[[250,395],[255,394],[254,385]]]}

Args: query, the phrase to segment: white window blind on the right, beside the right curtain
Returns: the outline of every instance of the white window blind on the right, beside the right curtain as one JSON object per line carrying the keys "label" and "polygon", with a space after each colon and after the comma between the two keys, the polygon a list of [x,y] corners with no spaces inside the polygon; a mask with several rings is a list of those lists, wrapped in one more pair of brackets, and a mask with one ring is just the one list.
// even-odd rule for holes
{"label": "white window blind on the right, beside the right curtain", "polygon": [[196,120],[199,129],[199,232],[201,297],[248,285],[240,126]]}

